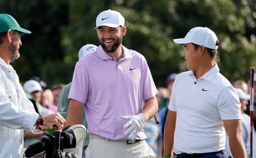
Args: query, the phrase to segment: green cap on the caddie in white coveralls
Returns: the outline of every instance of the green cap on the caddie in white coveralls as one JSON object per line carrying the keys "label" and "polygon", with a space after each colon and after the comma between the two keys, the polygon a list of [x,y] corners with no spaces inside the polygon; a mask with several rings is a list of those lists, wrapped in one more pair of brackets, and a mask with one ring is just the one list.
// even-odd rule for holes
{"label": "green cap on the caddie in white coveralls", "polygon": [[11,15],[0,14],[0,33],[6,32],[9,29],[20,31],[21,36],[31,34],[31,31],[21,28],[18,22]]}

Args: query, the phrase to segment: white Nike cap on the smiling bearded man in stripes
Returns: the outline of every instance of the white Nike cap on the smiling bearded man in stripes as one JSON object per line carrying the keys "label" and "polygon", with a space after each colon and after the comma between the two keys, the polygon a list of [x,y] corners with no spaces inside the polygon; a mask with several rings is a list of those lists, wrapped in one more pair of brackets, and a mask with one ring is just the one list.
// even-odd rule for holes
{"label": "white Nike cap on the smiling bearded man in stripes", "polygon": [[95,29],[99,26],[109,26],[116,28],[120,25],[125,26],[125,18],[123,18],[119,12],[109,9],[99,13],[98,17],[96,18]]}

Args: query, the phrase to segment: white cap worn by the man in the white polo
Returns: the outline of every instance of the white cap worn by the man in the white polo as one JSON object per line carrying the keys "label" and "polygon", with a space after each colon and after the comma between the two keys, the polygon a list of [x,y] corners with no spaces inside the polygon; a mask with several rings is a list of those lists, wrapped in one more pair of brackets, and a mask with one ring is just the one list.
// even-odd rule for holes
{"label": "white cap worn by the man in the white polo", "polygon": [[217,36],[207,27],[195,27],[191,29],[185,38],[174,39],[173,41],[178,44],[194,43],[203,45],[206,48],[217,50],[216,46]]}

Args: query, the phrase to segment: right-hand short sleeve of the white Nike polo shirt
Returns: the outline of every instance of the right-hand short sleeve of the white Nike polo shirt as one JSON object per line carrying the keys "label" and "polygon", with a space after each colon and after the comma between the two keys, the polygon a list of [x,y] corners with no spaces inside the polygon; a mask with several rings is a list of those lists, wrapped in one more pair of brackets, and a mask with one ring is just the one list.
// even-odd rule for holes
{"label": "right-hand short sleeve of the white Nike polo shirt", "polygon": [[223,88],[217,95],[216,105],[222,120],[241,119],[241,104],[232,86]]}

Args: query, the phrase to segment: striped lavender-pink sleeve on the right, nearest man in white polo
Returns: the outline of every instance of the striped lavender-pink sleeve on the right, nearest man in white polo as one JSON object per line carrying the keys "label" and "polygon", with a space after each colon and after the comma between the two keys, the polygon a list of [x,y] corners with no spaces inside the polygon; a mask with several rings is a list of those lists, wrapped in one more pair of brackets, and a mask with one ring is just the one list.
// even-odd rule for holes
{"label": "striped lavender-pink sleeve on the right, nearest man in white polo", "polygon": [[153,81],[153,78],[151,76],[149,66],[147,65],[147,62],[145,62],[144,70],[143,70],[143,96],[142,100],[147,100],[155,96],[158,91],[155,87],[155,83]]}

